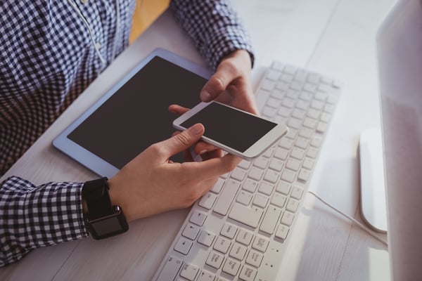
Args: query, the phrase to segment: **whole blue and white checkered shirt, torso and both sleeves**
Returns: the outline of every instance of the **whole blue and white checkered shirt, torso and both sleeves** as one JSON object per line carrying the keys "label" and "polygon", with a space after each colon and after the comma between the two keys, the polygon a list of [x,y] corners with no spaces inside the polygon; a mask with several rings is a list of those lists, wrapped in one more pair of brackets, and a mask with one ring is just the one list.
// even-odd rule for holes
{"label": "whole blue and white checkered shirt, torso and both sleeves", "polygon": [[[0,176],[127,47],[134,4],[0,2]],[[170,7],[211,69],[237,49],[253,60],[229,0],[174,0]],[[37,247],[86,237],[82,185],[35,186],[16,176],[0,183],[0,266]]]}

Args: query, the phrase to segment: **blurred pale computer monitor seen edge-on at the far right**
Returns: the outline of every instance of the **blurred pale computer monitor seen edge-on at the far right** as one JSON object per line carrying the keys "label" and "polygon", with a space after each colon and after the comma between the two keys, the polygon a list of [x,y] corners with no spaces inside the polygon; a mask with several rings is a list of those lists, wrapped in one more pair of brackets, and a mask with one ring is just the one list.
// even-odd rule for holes
{"label": "blurred pale computer monitor seen edge-on at the far right", "polygon": [[392,279],[422,280],[422,1],[401,0],[377,36]]}

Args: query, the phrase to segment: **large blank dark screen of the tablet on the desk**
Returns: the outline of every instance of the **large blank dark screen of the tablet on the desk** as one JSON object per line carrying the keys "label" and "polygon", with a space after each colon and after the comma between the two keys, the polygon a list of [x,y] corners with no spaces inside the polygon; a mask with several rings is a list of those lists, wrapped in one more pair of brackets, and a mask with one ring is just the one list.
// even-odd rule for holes
{"label": "large blank dark screen of the tablet on the desk", "polygon": [[[167,108],[198,104],[206,81],[155,56],[67,137],[122,169],[149,145],[170,138],[177,116]],[[181,154],[172,160],[181,162]]]}

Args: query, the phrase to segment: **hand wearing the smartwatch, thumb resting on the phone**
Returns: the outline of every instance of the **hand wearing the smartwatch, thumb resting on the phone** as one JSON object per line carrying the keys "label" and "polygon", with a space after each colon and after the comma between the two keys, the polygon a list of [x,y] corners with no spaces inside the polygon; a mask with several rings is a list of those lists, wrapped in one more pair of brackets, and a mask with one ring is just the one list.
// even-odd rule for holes
{"label": "hand wearing the smartwatch, thumb resting on the phone", "polygon": [[187,150],[203,136],[202,124],[155,143],[108,181],[110,199],[127,221],[191,206],[222,174],[233,170],[238,157],[224,155],[203,162],[174,163],[172,155]]}

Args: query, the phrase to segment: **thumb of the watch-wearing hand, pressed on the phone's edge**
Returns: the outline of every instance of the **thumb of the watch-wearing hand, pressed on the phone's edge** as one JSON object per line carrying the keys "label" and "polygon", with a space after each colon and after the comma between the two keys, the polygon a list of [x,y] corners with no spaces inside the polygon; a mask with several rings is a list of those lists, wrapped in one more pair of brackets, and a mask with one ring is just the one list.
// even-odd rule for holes
{"label": "thumb of the watch-wearing hand, pressed on the phone's edge", "polygon": [[203,136],[205,128],[203,124],[195,124],[190,128],[178,133],[172,138],[168,138],[161,142],[165,159],[170,158],[172,155],[188,149],[191,145],[197,143]]}

